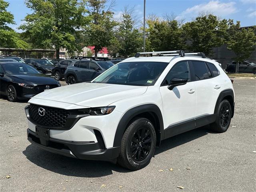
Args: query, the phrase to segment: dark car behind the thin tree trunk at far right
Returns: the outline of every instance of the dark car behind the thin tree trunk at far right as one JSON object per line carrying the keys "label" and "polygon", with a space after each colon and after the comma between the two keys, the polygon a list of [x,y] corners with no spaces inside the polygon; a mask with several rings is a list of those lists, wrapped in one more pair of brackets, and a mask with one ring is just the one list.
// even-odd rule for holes
{"label": "dark car behind the thin tree trunk at far right", "polygon": [[[236,72],[236,61],[232,61],[231,63],[226,65],[226,72]],[[256,74],[256,64],[250,61],[240,62],[238,72]]]}

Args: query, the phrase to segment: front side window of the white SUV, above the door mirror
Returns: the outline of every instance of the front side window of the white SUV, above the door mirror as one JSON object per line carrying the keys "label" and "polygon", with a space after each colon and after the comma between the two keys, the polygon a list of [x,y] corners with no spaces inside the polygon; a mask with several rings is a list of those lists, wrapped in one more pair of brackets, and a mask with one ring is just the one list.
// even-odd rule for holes
{"label": "front side window of the white SUV, above the door mirror", "polygon": [[188,81],[190,80],[190,73],[189,73],[187,61],[182,61],[182,62],[178,62],[177,64],[175,64],[171,68],[168,75],[166,76],[166,80],[165,80],[164,84],[165,85],[170,84],[170,80],[172,80],[172,78],[176,78],[176,77],[188,79]]}

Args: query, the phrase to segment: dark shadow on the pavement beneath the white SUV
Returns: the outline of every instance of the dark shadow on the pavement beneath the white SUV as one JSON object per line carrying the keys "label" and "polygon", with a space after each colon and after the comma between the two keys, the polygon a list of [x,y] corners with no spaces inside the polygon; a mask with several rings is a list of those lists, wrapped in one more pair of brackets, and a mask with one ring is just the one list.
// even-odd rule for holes
{"label": "dark shadow on the pavement beneath the white SUV", "polygon": [[[200,138],[208,133],[207,126],[204,126],[166,139],[162,141],[160,147],[156,148],[155,155]],[[41,150],[32,144],[23,151],[23,154],[30,160],[30,162],[37,166],[67,176],[93,178],[110,175],[112,174],[112,171],[130,172],[130,170],[126,170],[118,164],[115,165],[110,162],[68,158]]]}

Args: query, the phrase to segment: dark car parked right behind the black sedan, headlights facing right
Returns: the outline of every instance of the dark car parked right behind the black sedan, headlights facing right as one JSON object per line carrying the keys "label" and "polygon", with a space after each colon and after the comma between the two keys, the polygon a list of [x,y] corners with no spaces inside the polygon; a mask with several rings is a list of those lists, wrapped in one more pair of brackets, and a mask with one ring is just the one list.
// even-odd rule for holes
{"label": "dark car parked right behind the black sedan, headlights facing right", "polygon": [[29,64],[36,68],[39,72],[43,74],[53,74],[54,64],[48,60],[43,59],[26,59],[26,64]]}

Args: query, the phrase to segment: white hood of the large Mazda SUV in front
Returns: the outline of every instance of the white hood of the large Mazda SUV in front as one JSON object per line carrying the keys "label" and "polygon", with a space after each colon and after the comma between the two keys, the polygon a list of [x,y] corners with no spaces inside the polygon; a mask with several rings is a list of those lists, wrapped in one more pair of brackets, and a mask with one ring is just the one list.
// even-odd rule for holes
{"label": "white hood of the large Mazda SUV in front", "polygon": [[85,107],[103,107],[118,100],[144,94],[146,86],[78,83],[54,88],[33,98],[65,102]]}

